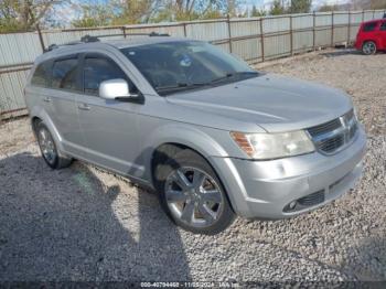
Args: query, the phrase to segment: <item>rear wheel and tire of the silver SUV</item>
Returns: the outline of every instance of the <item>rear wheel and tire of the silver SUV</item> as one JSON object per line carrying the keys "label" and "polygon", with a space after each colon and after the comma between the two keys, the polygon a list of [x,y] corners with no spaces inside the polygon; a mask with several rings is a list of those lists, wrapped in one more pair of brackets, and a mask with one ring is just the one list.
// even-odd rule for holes
{"label": "rear wheel and tire of the silver SUV", "polygon": [[63,157],[62,153],[57,150],[54,138],[52,137],[49,128],[44,125],[44,122],[37,122],[34,126],[34,130],[39,148],[45,163],[54,170],[69,167],[73,159]]}

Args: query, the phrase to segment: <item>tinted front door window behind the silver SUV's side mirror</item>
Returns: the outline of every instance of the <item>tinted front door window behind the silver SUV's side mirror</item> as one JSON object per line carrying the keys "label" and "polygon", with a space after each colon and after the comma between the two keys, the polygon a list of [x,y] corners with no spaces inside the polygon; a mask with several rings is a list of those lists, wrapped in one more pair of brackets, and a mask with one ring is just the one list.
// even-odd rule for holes
{"label": "tinted front door window behind the silver SUV's side mirror", "polygon": [[126,74],[111,60],[106,57],[86,57],[84,63],[84,87],[85,93],[98,95],[101,82],[121,78],[129,83],[130,90],[133,85],[129,82]]}

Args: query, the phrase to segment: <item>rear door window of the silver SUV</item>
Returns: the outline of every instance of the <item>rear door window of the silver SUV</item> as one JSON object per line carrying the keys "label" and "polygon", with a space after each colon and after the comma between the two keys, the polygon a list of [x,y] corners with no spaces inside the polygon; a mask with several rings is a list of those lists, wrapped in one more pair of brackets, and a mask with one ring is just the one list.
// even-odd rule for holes
{"label": "rear door window of the silver SUV", "polygon": [[78,90],[77,64],[77,58],[55,61],[52,67],[52,87],[66,90]]}

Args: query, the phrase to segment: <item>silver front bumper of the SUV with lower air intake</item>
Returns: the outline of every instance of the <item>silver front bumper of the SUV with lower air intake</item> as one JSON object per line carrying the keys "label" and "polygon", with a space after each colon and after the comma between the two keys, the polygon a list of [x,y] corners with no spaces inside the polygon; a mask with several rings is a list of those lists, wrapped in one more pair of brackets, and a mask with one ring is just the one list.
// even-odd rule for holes
{"label": "silver front bumper of the SUV with lower air intake", "polygon": [[[211,161],[238,215],[276,220],[320,207],[352,189],[362,174],[365,147],[360,128],[356,140],[334,156],[313,152],[270,161],[213,157]],[[293,201],[299,202],[290,210]]]}

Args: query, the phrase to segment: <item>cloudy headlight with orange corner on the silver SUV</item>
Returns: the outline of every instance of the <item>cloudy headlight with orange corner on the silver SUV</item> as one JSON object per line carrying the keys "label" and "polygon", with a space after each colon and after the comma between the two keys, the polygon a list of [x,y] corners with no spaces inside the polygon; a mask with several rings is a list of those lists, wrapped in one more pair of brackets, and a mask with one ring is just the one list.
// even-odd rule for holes
{"label": "cloudy headlight with orange corner on the silver SUV", "polygon": [[242,150],[257,160],[292,157],[315,150],[303,130],[283,133],[230,132],[230,136]]}

